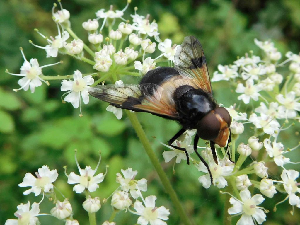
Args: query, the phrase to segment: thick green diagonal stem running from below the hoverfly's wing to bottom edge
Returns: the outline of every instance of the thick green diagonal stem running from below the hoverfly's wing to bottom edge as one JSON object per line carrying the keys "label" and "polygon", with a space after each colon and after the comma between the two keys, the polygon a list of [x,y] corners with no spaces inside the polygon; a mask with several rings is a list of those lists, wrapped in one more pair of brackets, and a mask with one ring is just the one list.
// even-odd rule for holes
{"label": "thick green diagonal stem running from below the hoverfly's wing to bottom edge", "polygon": [[184,211],[182,205],[180,204],[179,199],[178,199],[170,181],[167,178],[167,175],[165,174],[163,168],[161,167],[161,164],[158,161],[158,158],[155,156],[155,154],[151,148],[151,145],[149,143],[149,140],[147,139],[146,134],[142,128],[142,125],[140,124],[140,122],[137,119],[136,114],[131,113],[128,110],[125,110],[125,111],[134,127],[134,130],[137,133],[137,136],[139,137],[141,143],[143,144],[143,146],[146,150],[146,153],[147,153],[148,157],[150,158],[150,161],[152,162],[152,165],[154,166],[156,172],[158,173],[161,183],[164,185],[165,190],[168,192],[168,194],[176,208],[176,211],[179,215],[179,218],[182,220],[182,222],[185,225],[187,225],[187,224],[191,225],[192,223],[191,223],[189,217],[187,216],[186,212]]}

